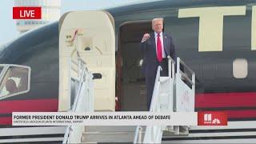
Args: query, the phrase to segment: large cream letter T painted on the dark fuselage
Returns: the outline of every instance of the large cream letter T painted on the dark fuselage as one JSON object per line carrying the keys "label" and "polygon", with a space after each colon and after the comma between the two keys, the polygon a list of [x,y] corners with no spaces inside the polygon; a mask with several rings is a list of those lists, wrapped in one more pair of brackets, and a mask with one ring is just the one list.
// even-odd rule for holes
{"label": "large cream letter T painted on the dark fuselage", "polygon": [[223,17],[245,14],[246,6],[200,7],[178,10],[178,18],[199,17],[198,51],[222,51]]}

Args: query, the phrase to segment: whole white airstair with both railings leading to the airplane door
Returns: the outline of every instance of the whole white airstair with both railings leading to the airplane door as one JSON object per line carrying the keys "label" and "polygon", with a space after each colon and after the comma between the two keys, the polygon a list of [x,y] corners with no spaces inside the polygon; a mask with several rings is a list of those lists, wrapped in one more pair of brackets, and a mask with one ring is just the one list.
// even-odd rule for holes
{"label": "whole white airstair with both railings leading to the airplane door", "polygon": [[[169,76],[161,77],[158,67],[150,112],[193,112],[194,111],[194,72],[177,58],[177,73],[174,73],[174,60],[169,58]],[[79,58],[78,58],[79,60]],[[84,62],[81,62],[84,65]],[[180,70],[185,66],[191,78]],[[79,65],[78,65],[79,66]],[[78,92],[70,111],[93,111],[92,77],[86,67],[81,67]],[[87,77],[86,77],[87,75]],[[188,85],[189,84],[189,85]],[[162,135],[172,136],[189,134],[189,126],[68,126],[63,143],[95,143],[95,142],[134,142],[161,143]]]}

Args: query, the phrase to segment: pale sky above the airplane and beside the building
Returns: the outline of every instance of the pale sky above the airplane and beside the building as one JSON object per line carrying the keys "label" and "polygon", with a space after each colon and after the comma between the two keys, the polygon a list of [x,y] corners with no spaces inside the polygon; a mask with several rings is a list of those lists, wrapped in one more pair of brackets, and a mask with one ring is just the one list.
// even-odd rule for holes
{"label": "pale sky above the airplane and beside the building", "polygon": [[[127,5],[142,0],[62,0],[61,14],[70,10],[100,10],[112,6]],[[1,0],[0,46],[18,37],[19,32],[13,19],[14,0]]]}

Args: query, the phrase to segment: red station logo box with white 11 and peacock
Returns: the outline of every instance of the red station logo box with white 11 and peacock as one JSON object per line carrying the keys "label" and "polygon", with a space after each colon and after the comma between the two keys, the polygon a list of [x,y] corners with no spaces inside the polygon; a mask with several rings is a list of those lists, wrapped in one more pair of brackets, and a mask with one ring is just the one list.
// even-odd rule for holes
{"label": "red station logo box with white 11 and peacock", "polygon": [[198,112],[198,126],[227,126],[227,115],[224,112]]}

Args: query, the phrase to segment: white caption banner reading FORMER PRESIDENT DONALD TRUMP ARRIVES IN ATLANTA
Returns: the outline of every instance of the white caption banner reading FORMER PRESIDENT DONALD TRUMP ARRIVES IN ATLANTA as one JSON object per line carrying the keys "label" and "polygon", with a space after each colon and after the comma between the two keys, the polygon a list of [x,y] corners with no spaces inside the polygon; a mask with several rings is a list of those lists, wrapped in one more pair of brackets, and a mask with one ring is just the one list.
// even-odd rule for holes
{"label": "white caption banner reading FORMER PRESIDENT DONALD TRUMP ARRIVES IN ATLANTA", "polygon": [[14,112],[13,126],[197,126],[197,113],[151,112]]}

